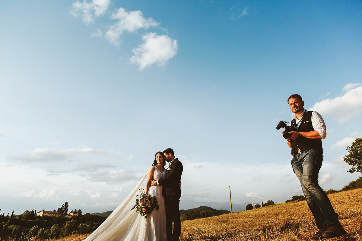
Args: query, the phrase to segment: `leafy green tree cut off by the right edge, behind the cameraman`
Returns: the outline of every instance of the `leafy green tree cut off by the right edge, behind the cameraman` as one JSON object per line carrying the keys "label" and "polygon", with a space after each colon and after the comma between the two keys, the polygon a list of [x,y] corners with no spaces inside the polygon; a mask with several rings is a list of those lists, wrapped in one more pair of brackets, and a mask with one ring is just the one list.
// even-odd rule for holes
{"label": "leafy green tree cut off by the right edge, behind the cameraman", "polygon": [[362,138],[356,138],[352,142],[352,146],[347,146],[346,150],[349,154],[343,157],[343,160],[352,166],[347,172],[361,172],[362,173]]}

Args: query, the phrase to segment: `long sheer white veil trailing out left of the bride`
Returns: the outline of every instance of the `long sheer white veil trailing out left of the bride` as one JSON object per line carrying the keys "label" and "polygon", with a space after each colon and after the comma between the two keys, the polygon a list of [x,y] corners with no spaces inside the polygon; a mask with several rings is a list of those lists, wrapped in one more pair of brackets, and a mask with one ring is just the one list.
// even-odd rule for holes
{"label": "long sheer white veil trailing out left of the bride", "polygon": [[[84,241],[135,241],[144,240],[152,227],[135,210],[130,210],[136,203],[138,189],[144,188],[147,174],[135,186],[125,200],[108,218]],[[152,231],[151,231],[152,232]]]}

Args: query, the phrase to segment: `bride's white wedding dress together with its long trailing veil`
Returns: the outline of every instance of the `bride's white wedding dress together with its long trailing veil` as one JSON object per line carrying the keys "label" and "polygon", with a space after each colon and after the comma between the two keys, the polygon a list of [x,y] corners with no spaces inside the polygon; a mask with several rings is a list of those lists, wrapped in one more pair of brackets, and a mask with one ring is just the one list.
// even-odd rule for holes
{"label": "bride's white wedding dress together with its long trailing veil", "polygon": [[[166,175],[155,167],[153,179],[159,180]],[[156,196],[160,205],[145,219],[135,210],[130,210],[136,204],[138,189],[145,188],[147,174],[135,186],[125,200],[109,215],[109,217],[84,241],[165,241],[166,212],[162,196],[162,186],[150,186],[148,194]]]}

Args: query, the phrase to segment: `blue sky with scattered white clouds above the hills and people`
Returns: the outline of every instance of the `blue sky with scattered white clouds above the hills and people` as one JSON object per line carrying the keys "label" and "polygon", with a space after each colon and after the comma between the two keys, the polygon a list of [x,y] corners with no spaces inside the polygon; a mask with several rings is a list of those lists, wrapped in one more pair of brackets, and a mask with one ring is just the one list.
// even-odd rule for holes
{"label": "blue sky with scattered white clouds above the hills and people", "polygon": [[275,129],[294,93],[327,125],[322,188],[342,188],[360,176],[342,157],[362,134],[361,13],[358,1],[2,1],[1,211],[114,210],[167,147],[184,164],[182,209],[228,209],[228,186],[233,211],[284,202],[302,194]]}

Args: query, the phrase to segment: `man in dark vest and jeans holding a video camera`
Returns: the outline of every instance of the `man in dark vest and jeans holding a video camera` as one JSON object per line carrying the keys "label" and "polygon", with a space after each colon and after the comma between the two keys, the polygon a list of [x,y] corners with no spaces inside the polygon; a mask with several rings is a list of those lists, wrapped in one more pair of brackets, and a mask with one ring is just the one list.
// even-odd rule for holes
{"label": "man in dark vest and jeans holding a video camera", "polygon": [[[296,131],[289,132],[287,144],[293,156],[291,164],[306,196],[319,231],[311,238],[333,238],[346,234],[338,221],[338,214],[328,196],[318,185],[318,173],[322,165],[322,141],[327,135],[324,120],[316,111],[304,109],[304,101],[298,94],[288,98],[291,111],[295,114],[291,125]],[[283,132],[282,132],[283,133]]]}

